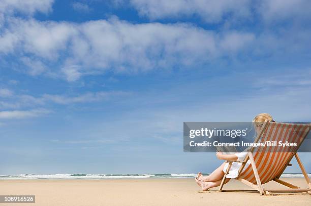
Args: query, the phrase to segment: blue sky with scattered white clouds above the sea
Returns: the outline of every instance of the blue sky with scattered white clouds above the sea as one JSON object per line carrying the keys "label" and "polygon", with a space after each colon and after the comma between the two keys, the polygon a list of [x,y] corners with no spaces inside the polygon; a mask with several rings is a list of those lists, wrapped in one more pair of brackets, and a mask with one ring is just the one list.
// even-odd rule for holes
{"label": "blue sky with scattered white clouds above the sea", "polygon": [[1,5],[0,174],[211,172],[183,121],[311,121],[309,1]]}

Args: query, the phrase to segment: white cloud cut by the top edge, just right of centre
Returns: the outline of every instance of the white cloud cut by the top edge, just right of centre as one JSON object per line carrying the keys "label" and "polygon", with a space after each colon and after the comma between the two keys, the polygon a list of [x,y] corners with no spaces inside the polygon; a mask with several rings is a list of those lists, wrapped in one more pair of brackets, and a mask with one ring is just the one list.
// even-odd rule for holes
{"label": "white cloud cut by the top edge, just right of centre", "polygon": [[251,13],[250,0],[131,0],[130,2],[140,15],[150,19],[197,15],[207,22],[218,23],[226,15],[230,15],[231,18],[247,17]]}

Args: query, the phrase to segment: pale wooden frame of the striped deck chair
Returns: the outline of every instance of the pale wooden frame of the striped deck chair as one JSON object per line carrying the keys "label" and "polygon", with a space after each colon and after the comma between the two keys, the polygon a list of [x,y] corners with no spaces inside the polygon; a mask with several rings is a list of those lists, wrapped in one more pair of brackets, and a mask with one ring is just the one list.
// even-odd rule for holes
{"label": "pale wooden frame of the striped deck chair", "polygon": [[[266,129],[267,125],[268,125],[267,122],[268,122],[268,121],[265,121],[265,122],[264,122],[263,127],[261,128],[259,134],[257,135],[257,137],[256,137],[256,139],[255,139],[255,142],[258,142],[258,140],[260,139],[261,135],[262,135],[263,132],[265,131],[265,129]],[[306,135],[307,135],[307,133],[306,133]],[[226,170],[226,172],[225,172],[224,178],[223,178],[223,180],[222,180],[222,182],[221,182],[221,185],[220,185],[218,191],[220,191],[220,192],[223,192],[223,191],[239,191],[239,190],[223,190],[223,186],[224,186],[225,181],[226,181],[226,179],[227,179],[227,178],[226,178],[226,175],[229,173],[230,168],[231,168],[231,166],[232,166],[232,163],[233,163],[233,162],[240,162],[240,163],[242,163],[242,165],[241,165],[241,167],[240,167],[240,169],[239,169],[238,176],[237,176],[235,179],[238,180],[238,181],[240,181],[240,182],[242,182],[243,184],[245,184],[245,185],[250,186],[250,187],[253,188],[253,190],[247,190],[247,191],[259,191],[259,193],[260,193],[261,195],[311,194],[311,181],[310,181],[310,179],[309,179],[309,177],[308,177],[307,172],[305,171],[305,168],[304,168],[304,166],[303,166],[303,164],[302,164],[302,162],[301,162],[301,160],[300,160],[300,158],[299,158],[297,152],[293,152],[293,153],[292,153],[292,155],[290,156],[290,158],[289,158],[287,164],[285,164],[284,168],[283,168],[283,169],[281,170],[281,172],[277,175],[277,177],[273,179],[273,181],[278,182],[279,184],[282,184],[282,185],[284,185],[284,186],[287,186],[287,187],[289,187],[289,188],[291,188],[291,189],[264,189],[263,186],[262,186],[262,184],[261,184],[260,177],[259,177],[259,175],[258,175],[258,171],[257,171],[256,164],[255,164],[255,161],[254,161],[254,157],[253,157],[253,153],[252,153],[253,150],[254,150],[254,148],[248,150],[247,155],[246,155],[246,157],[245,157],[245,159],[244,159],[243,161],[229,161],[229,160],[227,160],[227,162],[229,162],[229,166],[228,166],[228,168],[227,168],[227,170]],[[291,164],[290,164],[289,162],[292,160],[292,158],[293,158],[294,156],[295,156],[295,158],[296,158],[296,160],[297,160],[297,162],[298,162],[298,165],[299,165],[299,167],[300,167],[300,170],[301,170],[301,172],[302,172],[302,174],[303,174],[303,176],[304,176],[304,179],[305,179],[305,181],[306,181],[306,183],[307,183],[308,188],[306,188],[306,189],[301,189],[301,188],[299,188],[298,186],[295,186],[295,185],[293,185],[293,184],[290,184],[290,183],[288,183],[288,182],[285,182],[284,180],[279,179],[279,177],[281,177],[281,175],[283,174],[283,172],[285,171],[285,169],[287,168],[287,166],[291,166]],[[257,184],[253,184],[253,183],[251,183],[251,182],[249,182],[249,181],[247,181],[247,180],[242,179],[242,178],[239,177],[240,174],[241,174],[241,172],[242,172],[242,170],[244,169],[245,164],[246,164],[246,162],[247,162],[248,159],[251,161],[252,170],[253,170],[253,173],[254,173],[254,176],[255,176],[255,179],[256,179],[256,183],[257,183]],[[240,191],[245,191],[245,190],[240,190]]]}

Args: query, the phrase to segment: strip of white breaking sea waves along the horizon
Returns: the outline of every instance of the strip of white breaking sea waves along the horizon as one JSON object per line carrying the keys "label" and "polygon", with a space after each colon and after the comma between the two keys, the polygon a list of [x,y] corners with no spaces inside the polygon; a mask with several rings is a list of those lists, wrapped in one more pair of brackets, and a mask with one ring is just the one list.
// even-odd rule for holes
{"label": "strip of white breaking sea waves along the horizon", "polygon": [[[205,174],[207,175],[207,174]],[[32,180],[32,179],[143,179],[143,178],[194,178],[197,174],[50,174],[50,175],[37,175],[37,174],[20,174],[20,175],[0,175],[0,180]],[[311,177],[311,174],[308,174]],[[287,173],[283,174],[283,178],[303,178],[300,173]]]}

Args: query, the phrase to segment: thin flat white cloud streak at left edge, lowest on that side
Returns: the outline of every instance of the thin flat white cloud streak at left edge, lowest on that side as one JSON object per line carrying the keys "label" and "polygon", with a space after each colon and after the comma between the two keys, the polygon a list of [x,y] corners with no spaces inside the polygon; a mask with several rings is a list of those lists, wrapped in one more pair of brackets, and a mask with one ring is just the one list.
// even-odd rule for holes
{"label": "thin flat white cloud streak at left edge, lowest on that side", "polygon": [[12,110],[12,111],[0,111],[0,119],[20,119],[20,118],[29,118],[37,117],[44,114],[50,113],[46,109],[33,109],[33,110]]}

